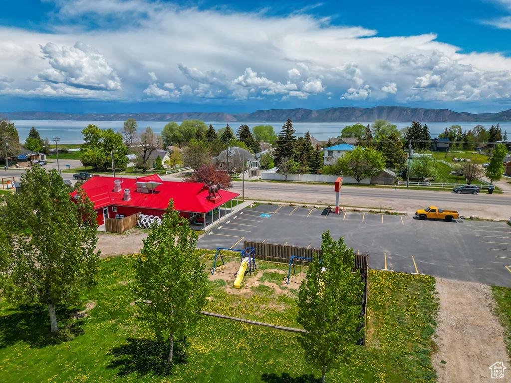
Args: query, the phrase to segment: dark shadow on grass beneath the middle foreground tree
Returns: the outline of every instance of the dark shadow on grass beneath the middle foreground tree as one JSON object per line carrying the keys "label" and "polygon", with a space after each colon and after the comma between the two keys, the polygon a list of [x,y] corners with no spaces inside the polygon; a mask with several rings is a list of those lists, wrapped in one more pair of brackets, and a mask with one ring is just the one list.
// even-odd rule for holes
{"label": "dark shadow on grass beneath the middle foreground tree", "polygon": [[174,341],[174,355],[172,364],[168,363],[169,342],[153,339],[128,338],[126,343],[114,347],[109,354],[114,360],[107,368],[119,368],[117,375],[126,376],[132,373],[145,375],[172,375],[174,364],[188,363],[186,349],[189,345],[186,337]]}

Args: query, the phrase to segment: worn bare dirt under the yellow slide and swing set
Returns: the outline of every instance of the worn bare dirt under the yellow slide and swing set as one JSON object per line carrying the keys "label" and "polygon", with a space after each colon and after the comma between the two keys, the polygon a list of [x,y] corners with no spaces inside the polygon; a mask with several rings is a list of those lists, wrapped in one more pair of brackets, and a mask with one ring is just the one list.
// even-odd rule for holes
{"label": "worn bare dirt under the yellow slide and swing set", "polygon": [[[256,264],[257,264],[256,260]],[[249,297],[253,294],[251,287],[257,287],[261,284],[272,288],[276,294],[286,294],[289,296],[294,296],[289,289],[297,290],[300,287],[301,281],[303,281],[306,277],[306,273],[302,272],[299,275],[292,275],[289,280],[289,285],[286,284],[285,279],[287,278],[287,273],[281,269],[266,269],[266,270],[258,270],[255,275],[252,273],[250,276],[248,271],[245,273],[243,277],[243,281],[241,282],[241,289],[234,289],[233,283],[236,279],[236,274],[238,273],[238,269],[240,268],[240,260],[230,260],[225,263],[225,265],[217,266],[215,268],[215,274],[210,275],[210,280],[224,280],[227,285],[224,287],[224,290],[229,294],[241,295],[244,297]],[[274,283],[269,280],[261,280],[266,273],[278,273],[282,274],[282,281],[280,283]],[[281,287],[286,287],[287,289],[281,289]]]}

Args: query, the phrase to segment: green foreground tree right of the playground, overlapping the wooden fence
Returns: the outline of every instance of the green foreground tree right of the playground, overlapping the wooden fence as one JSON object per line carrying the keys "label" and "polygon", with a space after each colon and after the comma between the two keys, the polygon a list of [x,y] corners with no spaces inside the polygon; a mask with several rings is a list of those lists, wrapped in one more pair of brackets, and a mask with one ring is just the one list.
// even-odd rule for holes
{"label": "green foreground tree right of the playground, overlapping the wooden fence", "polygon": [[300,285],[296,320],[308,331],[299,338],[306,360],[321,369],[325,383],[327,372],[353,353],[362,336],[357,328],[364,320],[363,285],[360,271],[352,273],[355,255],[343,237],[335,242],[329,231],[323,233],[321,253],[321,260],[313,255]]}

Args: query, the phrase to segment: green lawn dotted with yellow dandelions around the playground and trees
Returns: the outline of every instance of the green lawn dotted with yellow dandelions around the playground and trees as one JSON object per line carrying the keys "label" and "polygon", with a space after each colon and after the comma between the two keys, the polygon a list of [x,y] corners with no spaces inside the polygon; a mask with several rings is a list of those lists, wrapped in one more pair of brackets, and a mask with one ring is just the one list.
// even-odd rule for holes
{"label": "green lawn dotted with yellow dandelions around the playground and trees", "polygon": [[[212,266],[212,255],[203,259]],[[87,306],[59,308],[58,336],[49,332],[44,307],[13,307],[0,300],[2,381],[318,381],[320,371],[305,362],[299,335],[212,317],[204,317],[185,341],[177,342],[177,362],[168,366],[167,343],[156,339],[136,315],[129,290],[133,263],[132,256],[102,260],[98,285],[82,296]],[[257,273],[245,277],[241,290],[233,289],[231,281],[210,280],[205,309],[298,326],[296,290],[282,282],[285,274],[286,265],[258,261]],[[250,278],[259,278],[259,284],[250,286]],[[327,381],[433,382],[433,291],[434,279],[428,276],[371,271],[368,345],[353,346],[353,354],[327,374]],[[86,317],[71,317],[86,307]]]}

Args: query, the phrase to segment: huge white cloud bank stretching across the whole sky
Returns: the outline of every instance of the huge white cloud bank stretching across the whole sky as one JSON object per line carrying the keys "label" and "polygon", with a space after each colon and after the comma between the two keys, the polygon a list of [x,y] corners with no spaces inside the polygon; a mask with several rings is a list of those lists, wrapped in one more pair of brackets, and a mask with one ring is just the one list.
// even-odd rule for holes
{"label": "huge white cloud bank stretching across the whole sky", "polygon": [[[26,80],[35,78],[62,97],[111,99],[109,93],[117,93],[128,101],[141,95],[187,104],[264,99],[267,106],[325,94],[354,101],[510,105],[510,58],[460,53],[434,33],[379,37],[372,29],[334,26],[303,13],[268,17],[145,0],[57,5],[63,27],[52,34],[0,27],[2,75],[16,79],[24,94],[49,92]],[[90,31],[90,19],[104,28]],[[110,19],[131,22],[112,27]],[[39,44],[46,44],[43,55]]]}

